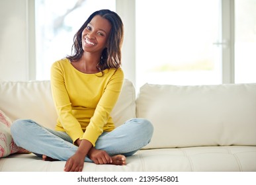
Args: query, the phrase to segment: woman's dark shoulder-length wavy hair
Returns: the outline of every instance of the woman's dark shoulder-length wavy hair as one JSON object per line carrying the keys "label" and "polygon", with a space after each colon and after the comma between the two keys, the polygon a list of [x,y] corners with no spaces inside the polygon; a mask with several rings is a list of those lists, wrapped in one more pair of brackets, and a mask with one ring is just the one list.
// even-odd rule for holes
{"label": "woman's dark shoulder-length wavy hair", "polygon": [[96,15],[100,15],[104,19],[107,19],[111,24],[111,30],[108,37],[108,47],[103,50],[101,54],[101,61],[97,64],[97,68],[100,71],[110,68],[118,69],[121,65],[121,46],[124,39],[124,25],[120,17],[115,12],[108,9],[95,11],[95,13],[90,15],[85,23],[83,23],[83,26],[81,26],[73,38],[72,54],[67,55],[67,59],[70,61],[77,61],[82,57],[83,48],[81,34],[87,27],[87,24],[89,24]]}

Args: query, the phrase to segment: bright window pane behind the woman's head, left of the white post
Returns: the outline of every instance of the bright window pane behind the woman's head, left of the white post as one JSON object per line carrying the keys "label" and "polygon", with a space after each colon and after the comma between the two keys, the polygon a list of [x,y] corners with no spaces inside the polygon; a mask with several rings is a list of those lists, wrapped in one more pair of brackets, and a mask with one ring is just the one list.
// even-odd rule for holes
{"label": "bright window pane behind the woman's head, left of the white post", "polygon": [[115,11],[115,0],[40,0],[36,13],[36,79],[50,79],[50,67],[71,54],[73,36],[99,9]]}

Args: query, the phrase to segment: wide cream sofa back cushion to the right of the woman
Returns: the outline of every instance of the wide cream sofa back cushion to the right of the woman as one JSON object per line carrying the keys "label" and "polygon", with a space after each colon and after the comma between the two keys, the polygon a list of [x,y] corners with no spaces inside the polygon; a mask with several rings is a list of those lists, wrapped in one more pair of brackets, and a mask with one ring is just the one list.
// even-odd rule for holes
{"label": "wide cream sofa back cushion to the right of the woman", "polygon": [[146,84],[136,105],[154,126],[145,148],[256,145],[256,84]]}

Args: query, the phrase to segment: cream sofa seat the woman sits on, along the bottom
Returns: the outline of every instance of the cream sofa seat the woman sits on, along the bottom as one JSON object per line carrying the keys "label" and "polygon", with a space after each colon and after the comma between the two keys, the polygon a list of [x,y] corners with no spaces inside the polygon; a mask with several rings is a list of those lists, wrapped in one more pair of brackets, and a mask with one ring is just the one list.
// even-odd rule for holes
{"label": "cream sofa seat the woman sits on, along the bottom", "polygon": [[[22,159],[22,160],[21,160]],[[63,171],[65,161],[42,161],[33,154],[0,159],[0,171]],[[126,166],[85,163],[83,171],[256,171],[256,147],[187,147],[140,150]]]}

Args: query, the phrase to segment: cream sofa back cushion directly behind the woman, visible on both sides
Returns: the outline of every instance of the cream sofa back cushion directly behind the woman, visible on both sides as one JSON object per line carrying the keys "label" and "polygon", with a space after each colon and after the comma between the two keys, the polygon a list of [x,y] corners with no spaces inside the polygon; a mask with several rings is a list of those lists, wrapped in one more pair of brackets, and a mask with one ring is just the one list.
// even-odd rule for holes
{"label": "cream sofa back cushion directly behind the woman, visible on both sides", "polygon": [[[50,81],[0,82],[0,110],[12,121],[31,119],[52,129],[56,125]],[[135,89],[127,79],[111,116],[116,126],[136,117]]]}

